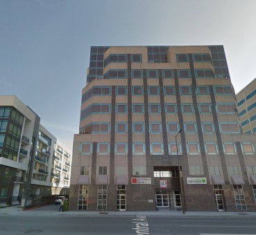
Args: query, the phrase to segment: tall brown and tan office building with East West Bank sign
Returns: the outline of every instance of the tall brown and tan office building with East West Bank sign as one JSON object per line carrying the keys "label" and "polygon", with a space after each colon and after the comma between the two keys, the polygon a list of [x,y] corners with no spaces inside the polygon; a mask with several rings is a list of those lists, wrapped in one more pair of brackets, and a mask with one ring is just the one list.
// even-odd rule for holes
{"label": "tall brown and tan office building with East West Bank sign", "polygon": [[223,46],[92,47],[69,208],[255,211],[255,144]]}

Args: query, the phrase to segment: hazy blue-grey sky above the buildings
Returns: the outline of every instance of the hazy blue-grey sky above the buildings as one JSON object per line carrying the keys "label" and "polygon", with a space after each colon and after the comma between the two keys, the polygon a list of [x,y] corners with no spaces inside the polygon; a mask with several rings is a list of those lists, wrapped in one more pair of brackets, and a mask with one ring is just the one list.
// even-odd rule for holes
{"label": "hazy blue-grey sky above the buildings", "polygon": [[255,0],[0,0],[0,95],[72,149],[90,46],[224,45],[236,93],[256,77]]}

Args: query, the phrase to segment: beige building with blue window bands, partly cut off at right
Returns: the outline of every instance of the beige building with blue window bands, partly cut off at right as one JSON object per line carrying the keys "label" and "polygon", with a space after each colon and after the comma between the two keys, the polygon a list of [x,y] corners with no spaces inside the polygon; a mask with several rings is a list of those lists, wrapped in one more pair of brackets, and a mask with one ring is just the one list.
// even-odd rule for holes
{"label": "beige building with blue window bands, partly cut off at right", "polygon": [[256,79],[237,93],[237,111],[243,133],[256,133]]}

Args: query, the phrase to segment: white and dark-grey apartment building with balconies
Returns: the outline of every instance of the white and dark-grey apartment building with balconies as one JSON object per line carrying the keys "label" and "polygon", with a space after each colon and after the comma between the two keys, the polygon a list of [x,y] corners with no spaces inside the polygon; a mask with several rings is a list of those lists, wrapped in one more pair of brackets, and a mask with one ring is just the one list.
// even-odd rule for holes
{"label": "white and dark-grey apartment building with balconies", "polygon": [[[0,203],[26,196],[68,194],[71,155],[63,150],[56,183],[57,138],[40,117],[15,96],[0,96]],[[63,148],[63,145],[62,145]]]}

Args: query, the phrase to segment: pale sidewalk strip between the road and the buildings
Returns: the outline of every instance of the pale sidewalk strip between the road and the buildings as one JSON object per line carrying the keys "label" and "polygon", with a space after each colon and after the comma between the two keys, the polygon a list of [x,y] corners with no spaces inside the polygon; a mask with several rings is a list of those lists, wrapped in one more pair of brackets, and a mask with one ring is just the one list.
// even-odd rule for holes
{"label": "pale sidewalk strip between the road and the buildings", "polygon": [[21,207],[0,208],[0,216],[256,216],[256,212],[182,212],[171,211],[169,209],[156,212],[88,212],[88,211],[68,211],[58,212],[59,205],[49,205],[40,208],[23,210]]}

